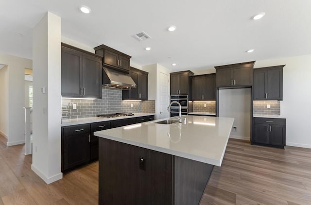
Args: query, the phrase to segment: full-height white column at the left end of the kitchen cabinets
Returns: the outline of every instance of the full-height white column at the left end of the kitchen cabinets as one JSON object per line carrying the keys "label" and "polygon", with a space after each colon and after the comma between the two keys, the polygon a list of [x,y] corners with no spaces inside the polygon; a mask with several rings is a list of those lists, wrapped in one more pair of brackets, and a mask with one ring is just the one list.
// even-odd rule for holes
{"label": "full-height white column at the left end of the kitchen cabinets", "polygon": [[47,12],[33,32],[33,164],[47,184],[61,172],[61,18]]}

